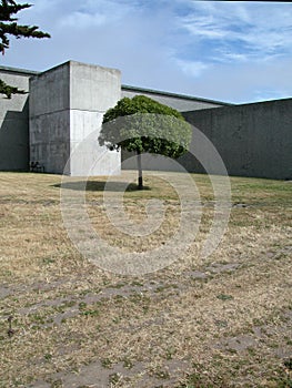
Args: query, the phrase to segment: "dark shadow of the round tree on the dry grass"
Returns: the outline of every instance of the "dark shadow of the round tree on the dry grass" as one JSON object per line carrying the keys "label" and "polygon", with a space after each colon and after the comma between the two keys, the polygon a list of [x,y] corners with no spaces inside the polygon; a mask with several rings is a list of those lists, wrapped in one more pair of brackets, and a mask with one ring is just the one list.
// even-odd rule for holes
{"label": "dark shadow of the round tree on the dry grass", "polygon": [[[53,187],[61,187],[66,190],[85,191],[88,192],[141,192],[135,183],[129,183],[124,190],[125,182],[108,182],[108,181],[75,181],[75,182],[64,182],[52,185]],[[149,191],[151,187],[144,186],[142,191]]]}

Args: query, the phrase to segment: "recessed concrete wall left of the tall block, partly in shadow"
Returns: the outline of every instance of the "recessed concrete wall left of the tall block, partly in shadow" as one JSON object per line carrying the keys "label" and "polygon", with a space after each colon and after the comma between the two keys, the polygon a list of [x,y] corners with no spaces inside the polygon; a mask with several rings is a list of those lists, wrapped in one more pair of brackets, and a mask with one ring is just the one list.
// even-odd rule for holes
{"label": "recessed concrete wall left of the tall block, partly in shadow", "polygon": [[[29,78],[34,72],[0,68],[0,79],[29,91]],[[0,170],[29,169],[29,104],[28,94],[14,94],[11,100],[0,94]]]}

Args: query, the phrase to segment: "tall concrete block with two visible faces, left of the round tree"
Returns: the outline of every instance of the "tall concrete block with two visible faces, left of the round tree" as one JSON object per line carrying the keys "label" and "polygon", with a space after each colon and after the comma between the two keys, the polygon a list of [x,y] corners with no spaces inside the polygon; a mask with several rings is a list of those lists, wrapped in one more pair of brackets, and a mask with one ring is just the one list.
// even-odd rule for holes
{"label": "tall concrete block with two visible faces, left of the round tree", "polygon": [[30,81],[30,154],[46,172],[107,175],[120,154],[98,144],[104,112],[120,99],[120,72],[67,62]]}

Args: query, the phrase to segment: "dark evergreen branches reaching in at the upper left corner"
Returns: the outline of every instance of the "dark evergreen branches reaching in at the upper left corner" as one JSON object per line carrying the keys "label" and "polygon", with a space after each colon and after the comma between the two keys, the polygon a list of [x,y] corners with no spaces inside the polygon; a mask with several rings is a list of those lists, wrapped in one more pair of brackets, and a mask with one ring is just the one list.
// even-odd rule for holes
{"label": "dark evergreen branches reaching in at the upper left corner", "polygon": [[[30,8],[31,4],[18,4],[14,0],[1,0],[0,6],[0,52],[4,55],[9,49],[10,41],[8,35],[19,38],[50,38],[50,34],[39,30],[37,25],[20,25],[18,18],[13,16],[19,11]],[[24,94],[23,90],[8,85],[3,80],[0,80],[0,93],[6,94],[11,99],[11,94]]]}

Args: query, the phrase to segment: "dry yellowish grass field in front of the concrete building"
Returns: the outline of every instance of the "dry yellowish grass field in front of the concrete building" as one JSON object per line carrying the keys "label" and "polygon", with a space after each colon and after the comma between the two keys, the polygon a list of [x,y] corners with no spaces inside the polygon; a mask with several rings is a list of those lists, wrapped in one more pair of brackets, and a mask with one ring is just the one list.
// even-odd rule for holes
{"label": "dry yellowish grass field in front of the concrete building", "polygon": [[[71,243],[61,176],[0,173],[1,388],[292,387],[292,183],[231,177],[229,227],[202,259],[214,197],[207,176],[193,178],[203,204],[193,244],[163,269],[122,276]],[[145,183],[123,201],[139,222],[148,200],[164,200],[147,237],[112,228],[104,177],[88,183],[90,219],[110,244],[143,252],[173,235],[178,195]]]}

